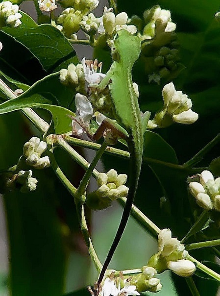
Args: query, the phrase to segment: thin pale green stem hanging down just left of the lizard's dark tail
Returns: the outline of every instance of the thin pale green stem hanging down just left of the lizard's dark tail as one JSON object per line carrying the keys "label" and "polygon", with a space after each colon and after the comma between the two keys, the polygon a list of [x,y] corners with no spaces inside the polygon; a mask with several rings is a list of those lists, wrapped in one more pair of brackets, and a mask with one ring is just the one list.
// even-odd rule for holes
{"label": "thin pale green stem hanging down just left of the lizard's dark tail", "polygon": [[86,223],[86,218],[85,218],[85,213],[84,213],[84,205],[78,199],[77,200],[75,199],[75,205],[76,205],[77,215],[78,215],[78,219],[80,221],[84,241],[86,243],[86,246],[88,247],[90,257],[91,257],[92,261],[94,262],[98,273],[100,273],[100,271],[102,269],[102,265],[101,265],[100,260],[98,259],[98,255],[95,251],[95,248],[93,247],[93,243],[92,243],[92,240],[89,235],[89,231],[88,231],[88,227],[87,227],[87,223]]}

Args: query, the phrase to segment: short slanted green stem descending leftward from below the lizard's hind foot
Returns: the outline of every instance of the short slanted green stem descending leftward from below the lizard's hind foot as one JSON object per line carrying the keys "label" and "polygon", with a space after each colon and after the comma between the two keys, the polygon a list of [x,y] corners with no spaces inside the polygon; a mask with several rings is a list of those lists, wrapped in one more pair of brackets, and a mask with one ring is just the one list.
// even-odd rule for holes
{"label": "short slanted green stem descending leftward from below the lizard's hind foot", "polygon": [[80,184],[79,184],[79,187],[77,189],[77,195],[81,196],[83,195],[85,189],[86,189],[86,186],[87,186],[87,183],[94,171],[94,169],[96,168],[97,164],[98,164],[98,161],[99,159],[101,158],[102,154],[104,153],[106,147],[107,147],[107,143],[104,141],[100,147],[100,149],[97,151],[95,157],[93,158],[93,161],[91,162],[88,170],[86,171],[86,173],[84,174]]}

